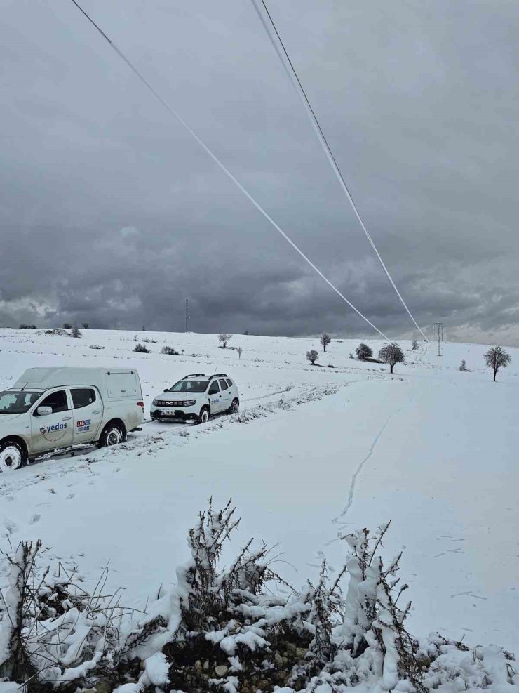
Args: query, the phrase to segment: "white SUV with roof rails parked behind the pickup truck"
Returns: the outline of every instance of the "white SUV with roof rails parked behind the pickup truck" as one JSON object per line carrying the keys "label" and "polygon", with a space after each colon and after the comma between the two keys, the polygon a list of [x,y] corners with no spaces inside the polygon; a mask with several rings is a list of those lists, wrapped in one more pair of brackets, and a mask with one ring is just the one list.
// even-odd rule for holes
{"label": "white SUV with roof rails parked behind the pickup truck", "polygon": [[151,419],[175,418],[205,423],[213,414],[240,410],[236,383],[226,373],[192,373],[164,390],[151,404]]}

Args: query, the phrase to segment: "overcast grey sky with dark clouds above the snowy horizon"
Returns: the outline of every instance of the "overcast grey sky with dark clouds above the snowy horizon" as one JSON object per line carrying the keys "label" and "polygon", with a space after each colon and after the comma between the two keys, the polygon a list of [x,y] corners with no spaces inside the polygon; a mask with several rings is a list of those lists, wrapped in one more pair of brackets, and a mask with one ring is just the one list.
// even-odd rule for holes
{"label": "overcast grey sky with dark clouds above the snowy horizon", "polygon": [[[83,7],[379,329],[414,336],[249,0]],[[269,0],[421,326],[519,345],[519,4]],[[375,336],[68,0],[0,0],[0,325]]]}

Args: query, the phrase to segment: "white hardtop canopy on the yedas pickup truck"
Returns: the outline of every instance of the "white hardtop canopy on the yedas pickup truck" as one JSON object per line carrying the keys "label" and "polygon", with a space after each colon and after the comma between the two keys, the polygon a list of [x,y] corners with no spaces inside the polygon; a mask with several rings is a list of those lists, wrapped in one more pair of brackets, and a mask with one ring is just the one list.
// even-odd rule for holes
{"label": "white hardtop canopy on the yedas pickup truck", "polygon": [[137,371],[130,368],[28,368],[11,390],[50,390],[70,385],[93,385],[104,400],[142,399]]}

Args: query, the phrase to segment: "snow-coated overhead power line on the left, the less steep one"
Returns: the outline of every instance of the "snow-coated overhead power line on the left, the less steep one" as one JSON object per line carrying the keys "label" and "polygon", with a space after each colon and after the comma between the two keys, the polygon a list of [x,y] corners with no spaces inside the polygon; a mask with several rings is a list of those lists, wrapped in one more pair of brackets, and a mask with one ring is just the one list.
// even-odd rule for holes
{"label": "snow-coated overhead power line on the left, the less steep one", "polygon": [[176,120],[188,131],[188,132],[189,132],[189,134],[190,134],[190,135],[196,140],[196,142],[198,142],[198,144],[202,147],[202,149],[205,151],[205,153],[208,154],[208,156],[209,156],[211,159],[213,159],[213,161],[215,162],[215,164],[217,164],[217,166],[219,166],[220,169],[222,169],[222,171],[225,173],[225,175],[228,176],[228,178],[230,178],[230,179],[232,180],[232,182],[236,185],[236,187],[238,187],[239,190],[241,190],[241,192],[243,192],[243,194],[245,195],[245,197],[247,197],[247,199],[250,200],[250,202],[252,202],[252,204],[256,207],[256,209],[262,213],[262,215],[271,223],[272,226],[274,226],[274,228],[276,229],[276,231],[278,231],[278,232],[283,236],[283,238],[285,239],[285,241],[288,242],[288,243],[292,246],[292,248],[293,248],[297,253],[299,253],[299,255],[306,261],[306,263],[308,263],[308,264],[310,265],[310,267],[311,267],[315,272],[317,272],[317,274],[321,277],[321,279],[324,279],[324,281],[326,282],[326,284],[328,284],[328,286],[330,286],[330,288],[333,289],[333,290],[335,291],[335,293],[337,293],[337,295],[340,296],[340,297],[342,298],[342,300],[345,301],[345,302],[349,305],[349,307],[352,308],[352,309],[357,313],[357,315],[360,315],[360,317],[361,317],[363,320],[365,320],[365,322],[367,322],[368,325],[370,325],[375,331],[377,331],[380,335],[382,335],[382,336],[384,337],[384,339],[389,339],[389,337],[386,336],[386,335],[384,334],[384,332],[380,331],[380,330],[378,329],[378,327],[375,327],[375,325],[374,325],[372,322],[370,322],[370,320],[368,320],[368,318],[365,317],[365,315],[363,315],[363,313],[361,313],[360,310],[358,310],[357,308],[355,308],[355,306],[353,305],[353,303],[351,303],[350,301],[348,301],[348,299],[346,298],[346,296],[344,296],[344,295],[339,291],[339,289],[337,289],[337,287],[334,286],[334,284],[332,284],[332,282],[330,282],[330,279],[328,279],[327,277],[325,277],[325,275],[323,275],[323,272],[321,272],[321,270],[319,270],[319,269],[316,267],[316,265],[314,265],[314,263],[313,263],[311,260],[309,260],[309,258],[306,257],[306,255],[303,253],[303,251],[300,250],[300,249],[298,248],[298,246],[292,241],[292,239],[290,239],[290,238],[288,237],[288,235],[285,234],[285,232],[283,231],[283,229],[281,229],[281,227],[279,227],[279,226],[276,224],[276,222],[274,221],[274,219],[271,218],[271,216],[269,216],[269,214],[263,209],[263,207],[259,204],[259,202],[256,202],[256,200],[254,199],[254,197],[252,197],[252,195],[251,195],[247,190],[245,190],[245,188],[243,187],[243,185],[241,185],[241,183],[237,180],[237,178],[235,178],[235,177],[233,176],[233,174],[231,173],[231,171],[229,171],[229,169],[227,169],[227,166],[225,166],[224,164],[222,164],[222,161],[220,161],[220,159],[218,159],[218,157],[216,156],[216,154],[213,154],[213,152],[212,152],[212,151],[209,149],[209,147],[203,142],[203,140],[201,140],[201,138],[199,138],[198,135],[197,135],[193,130],[191,130],[191,128],[189,127],[189,125],[180,117],[180,115],[173,109],[173,107],[171,107],[171,106],[167,103],[167,101],[165,101],[165,100],[161,97],[161,95],[160,95],[158,92],[155,91],[154,87],[151,86],[151,84],[149,83],[149,81],[147,81],[147,79],[146,79],[145,77],[143,77],[142,74],[140,74],[140,72],[139,72],[139,71],[137,70],[137,68],[133,65],[133,63],[130,62],[130,60],[128,60],[128,58],[126,58],[126,55],[124,55],[124,53],[122,53],[122,52],[119,50],[119,48],[117,48],[117,46],[114,44],[114,41],[112,41],[111,39],[109,39],[109,37],[107,37],[107,34],[105,34],[105,32],[103,32],[102,29],[100,29],[100,27],[97,26],[97,24],[94,22],[94,20],[93,20],[92,18],[90,18],[90,15],[88,15],[88,14],[83,10],[83,8],[76,2],[76,0],[71,0],[71,1],[72,1],[72,3],[81,11],[81,13],[83,13],[83,15],[88,19],[88,21],[90,22],[90,24],[93,25],[93,27],[95,27],[95,29],[97,29],[97,31],[101,34],[101,36],[103,37],[103,39],[105,39],[105,40],[108,42],[109,46],[111,46],[111,47],[114,49],[114,51],[117,53],[117,55],[119,55],[119,58],[121,58],[121,60],[123,60],[124,62],[126,62],[126,65],[128,65],[128,67],[129,67],[130,70],[135,74],[135,76],[138,77],[138,79],[140,79],[140,81],[142,81],[142,84],[144,84],[144,86],[146,86],[146,88],[147,88],[149,91],[151,91],[151,93],[155,96],[155,98],[158,99],[158,100],[160,101],[160,103],[170,112],[170,114],[173,115],[173,117],[174,117],[174,118],[175,118],[175,119],[176,119]]}

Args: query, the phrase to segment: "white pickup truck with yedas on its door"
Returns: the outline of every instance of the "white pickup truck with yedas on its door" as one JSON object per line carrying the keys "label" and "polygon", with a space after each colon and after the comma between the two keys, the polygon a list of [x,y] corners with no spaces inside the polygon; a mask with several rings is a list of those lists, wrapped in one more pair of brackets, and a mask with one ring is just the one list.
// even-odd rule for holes
{"label": "white pickup truck with yedas on its door", "polygon": [[128,368],[29,368],[0,392],[0,471],[78,444],[115,445],[144,420]]}

